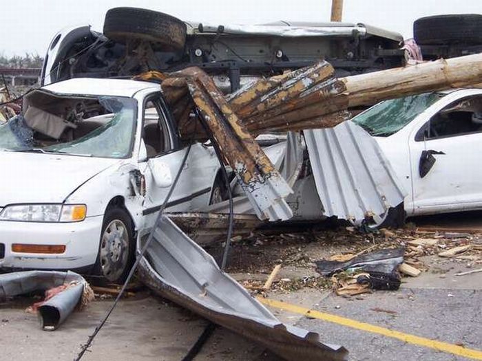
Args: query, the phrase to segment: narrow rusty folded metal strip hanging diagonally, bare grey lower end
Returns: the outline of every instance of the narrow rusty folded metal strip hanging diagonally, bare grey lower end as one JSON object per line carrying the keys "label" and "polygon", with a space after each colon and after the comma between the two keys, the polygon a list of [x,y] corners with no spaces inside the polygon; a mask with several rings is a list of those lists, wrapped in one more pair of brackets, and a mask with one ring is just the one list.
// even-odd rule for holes
{"label": "narrow rusty folded metal strip hanging diagonally, bare grey lower end", "polygon": [[164,91],[182,83],[187,85],[198,113],[235,171],[258,217],[272,221],[291,218],[291,208],[284,201],[292,193],[291,188],[245,129],[212,78],[196,67],[173,76],[163,82]]}

